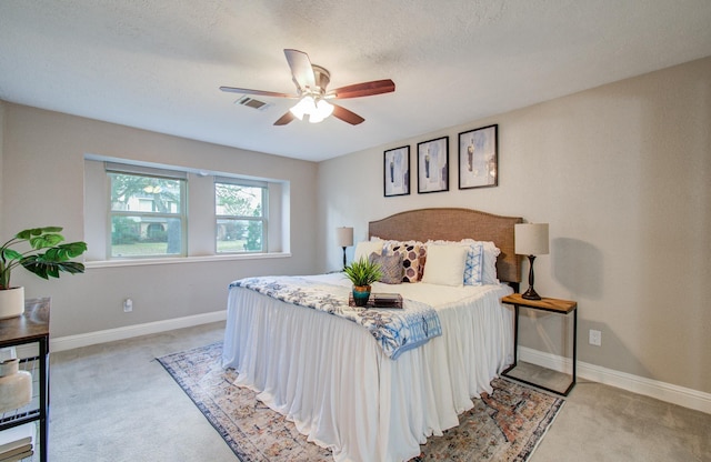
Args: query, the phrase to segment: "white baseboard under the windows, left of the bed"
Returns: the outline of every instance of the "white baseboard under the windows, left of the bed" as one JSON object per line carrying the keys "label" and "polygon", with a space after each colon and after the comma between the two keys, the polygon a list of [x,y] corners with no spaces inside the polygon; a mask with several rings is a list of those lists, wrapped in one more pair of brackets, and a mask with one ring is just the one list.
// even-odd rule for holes
{"label": "white baseboard under the windows, left of the bed", "polygon": [[49,345],[50,351],[72,350],[74,348],[89,346],[98,343],[113,342],[116,340],[131,339],[133,337],[224,321],[226,319],[227,310],[213,311],[211,313],[147,322],[144,324],[127,325],[124,328],[108,329],[104,331],[88,332],[78,335],[59,337],[57,339],[50,339]]}

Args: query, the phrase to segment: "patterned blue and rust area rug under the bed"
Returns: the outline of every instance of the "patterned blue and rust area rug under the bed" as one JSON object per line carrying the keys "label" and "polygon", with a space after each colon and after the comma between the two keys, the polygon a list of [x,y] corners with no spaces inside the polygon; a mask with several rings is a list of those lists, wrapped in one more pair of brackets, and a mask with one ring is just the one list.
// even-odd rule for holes
{"label": "patterned blue and rust area rug under the bed", "polygon": [[[242,462],[332,461],[330,451],[309,443],[293,423],[267,408],[251,390],[233,385],[222,370],[222,344],[159,358]],[[564,401],[494,379],[491,395],[474,400],[460,424],[432,436],[412,461],[525,461]]]}

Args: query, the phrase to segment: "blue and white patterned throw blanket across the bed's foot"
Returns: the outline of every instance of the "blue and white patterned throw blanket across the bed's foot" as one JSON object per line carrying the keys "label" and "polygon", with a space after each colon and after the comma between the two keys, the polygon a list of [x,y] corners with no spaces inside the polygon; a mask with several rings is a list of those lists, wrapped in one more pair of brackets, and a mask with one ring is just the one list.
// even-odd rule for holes
{"label": "blue and white patterned throw blanket across the bed's foot", "polygon": [[370,331],[390,359],[442,334],[437,311],[428,304],[403,300],[402,309],[363,309],[348,304],[350,289],[297,277],[247,278],[230,288],[244,288],[273,299],[312,308],[353,321]]}

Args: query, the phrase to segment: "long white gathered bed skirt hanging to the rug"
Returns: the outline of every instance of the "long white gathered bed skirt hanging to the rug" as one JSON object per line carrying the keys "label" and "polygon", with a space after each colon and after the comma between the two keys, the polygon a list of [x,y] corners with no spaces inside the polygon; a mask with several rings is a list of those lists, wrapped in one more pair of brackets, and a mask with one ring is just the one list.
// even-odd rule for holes
{"label": "long white gathered bed skirt hanging to the rug", "polygon": [[336,461],[407,461],[512,362],[510,292],[438,309],[442,337],[392,361],[351,321],[231,288],[223,366]]}

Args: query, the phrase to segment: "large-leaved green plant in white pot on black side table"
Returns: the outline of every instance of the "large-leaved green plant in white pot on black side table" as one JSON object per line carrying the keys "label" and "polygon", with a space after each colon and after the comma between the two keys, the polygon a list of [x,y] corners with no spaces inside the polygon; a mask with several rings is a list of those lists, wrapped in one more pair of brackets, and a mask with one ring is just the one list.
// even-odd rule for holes
{"label": "large-leaved green plant in white pot on black side table", "polygon": [[[19,317],[24,312],[24,288],[10,285],[10,275],[17,267],[42,279],[59,278],[60,272],[83,273],[84,265],[70,261],[87,250],[86,242],[62,243],[59,227],[32,228],[20,231],[0,247],[0,319]],[[26,244],[29,250],[11,247]]]}

